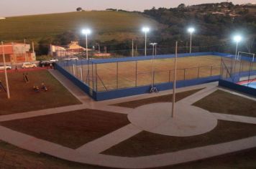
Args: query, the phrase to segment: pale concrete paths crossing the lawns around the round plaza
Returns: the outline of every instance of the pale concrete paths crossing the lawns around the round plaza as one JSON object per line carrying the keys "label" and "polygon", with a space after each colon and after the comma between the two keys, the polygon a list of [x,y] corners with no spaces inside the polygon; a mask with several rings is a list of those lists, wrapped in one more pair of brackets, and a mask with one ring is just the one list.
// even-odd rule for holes
{"label": "pale concrete paths crossing the lawns around the round plaza", "polygon": [[[48,110],[24,112],[24,113],[14,114],[14,115],[0,116],[0,121],[3,122],[7,120],[16,120],[16,119],[22,119],[27,117],[37,117],[40,115],[50,115],[54,113],[69,112],[73,110],[82,110],[86,108],[104,110],[109,112],[119,112],[122,114],[132,115],[132,113],[136,111],[136,109],[114,107],[109,105],[117,102],[127,102],[130,100],[140,100],[140,99],[149,98],[152,96],[166,95],[172,92],[170,90],[167,92],[160,92],[158,94],[153,94],[153,95],[145,94],[145,95],[126,97],[126,98],[121,98],[116,100],[94,102],[93,100],[91,100],[90,97],[86,96],[83,93],[83,91],[79,90],[69,80],[65,79],[65,77],[63,77],[60,73],[54,70],[50,70],[50,72],[65,87],[67,87],[68,90],[70,90],[70,92],[73,93],[73,95],[75,95],[79,100],[81,100],[83,104],[73,105],[68,107],[58,107],[58,108],[48,109]],[[186,97],[183,100],[180,100],[180,102],[176,104],[178,107],[177,113],[180,112],[179,107],[183,107],[183,109],[186,110],[187,108],[191,107],[191,104],[193,104],[193,102],[201,100],[201,98],[204,98],[205,96],[211,94],[211,92],[218,90],[218,87],[216,87],[216,83],[210,83],[210,84],[201,84],[195,87],[184,87],[182,89],[178,89],[178,92],[200,89],[202,87],[206,87],[206,88],[204,90],[197,92],[194,95],[191,95],[189,97]],[[158,103],[155,105],[155,107],[161,104],[163,103]],[[143,112],[143,113],[147,111],[148,111],[148,107],[140,110],[140,112]],[[256,124],[255,117],[224,115],[219,113],[211,113],[211,116],[214,117],[213,119],[218,119],[218,120],[229,120],[229,121],[235,121],[235,122],[247,122],[251,124]],[[141,119],[142,121],[145,120],[143,119],[144,117],[138,117],[138,118],[142,118]],[[150,117],[150,120],[152,120],[153,118],[154,117]],[[155,121],[152,121],[152,123],[154,122]],[[62,158],[64,160],[70,160],[78,163],[87,163],[91,165],[107,166],[111,168],[155,168],[155,167],[161,167],[165,165],[175,165],[179,163],[186,163],[193,160],[201,160],[204,158],[214,157],[216,155],[222,155],[225,153],[232,153],[239,150],[256,147],[256,137],[249,137],[242,140],[234,140],[228,143],[208,145],[201,148],[191,148],[188,150],[180,150],[173,153],[149,155],[149,156],[138,157],[138,158],[125,158],[125,157],[119,157],[119,156],[113,156],[113,155],[100,154],[104,150],[107,150],[112,146],[117,145],[118,143],[121,143],[122,141],[129,139],[129,137],[132,137],[137,133],[140,133],[142,130],[145,130],[143,127],[134,125],[132,123],[122,128],[119,128],[118,130],[111,132],[108,135],[99,137],[98,139],[93,140],[90,143],[87,143],[81,146],[81,148],[78,148],[76,150],[65,148],[62,145],[50,143],[50,142],[47,142],[46,140],[40,140],[36,137],[25,135],[21,132],[10,130],[9,128],[3,127],[3,126],[0,126],[0,133],[1,133],[0,139],[6,141],[7,143],[17,145],[19,148],[31,150],[36,153],[46,153],[58,158]],[[204,122],[203,125],[207,125],[207,123],[208,122]],[[157,128],[157,126],[155,126],[155,128],[152,126],[150,127],[152,128],[152,130],[155,130]],[[201,129],[198,128],[198,130],[201,130]],[[158,131],[157,133],[163,132],[163,128],[162,129],[158,128],[157,131]]]}

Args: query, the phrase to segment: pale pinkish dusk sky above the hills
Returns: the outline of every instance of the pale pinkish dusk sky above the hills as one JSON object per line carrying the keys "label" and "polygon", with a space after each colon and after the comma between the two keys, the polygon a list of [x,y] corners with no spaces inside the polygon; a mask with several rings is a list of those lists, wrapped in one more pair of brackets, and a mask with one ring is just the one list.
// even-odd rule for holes
{"label": "pale pinkish dusk sky above the hills", "polygon": [[[224,1],[224,0],[222,0]],[[107,8],[124,9],[128,11],[143,11],[151,9],[152,6],[159,7],[175,7],[178,4],[186,5],[216,3],[216,0],[194,0],[194,1],[170,1],[170,0],[1,0],[0,1],[0,17],[1,16],[19,16],[29,14],[48,14],[66,11],[76,11],[77,7],[85,10],[103,10]],[[234,4],[255,3],[256,0],[234,0]]]}

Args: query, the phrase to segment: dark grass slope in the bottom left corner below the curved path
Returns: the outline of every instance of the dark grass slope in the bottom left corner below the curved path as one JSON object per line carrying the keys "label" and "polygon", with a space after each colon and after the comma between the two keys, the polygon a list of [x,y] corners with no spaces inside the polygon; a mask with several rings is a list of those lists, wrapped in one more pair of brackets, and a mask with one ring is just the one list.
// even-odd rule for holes
{"label": "dark grass slope in the bottom left corner below the curved path", "polygon": [[49,155],[32,153],[14,145],[10,145],[0,140],[0,168],[16,169],[16,168],[40,168],[40,169],[103,169],[92,165],[84,165],[79,163],[60,160]]}

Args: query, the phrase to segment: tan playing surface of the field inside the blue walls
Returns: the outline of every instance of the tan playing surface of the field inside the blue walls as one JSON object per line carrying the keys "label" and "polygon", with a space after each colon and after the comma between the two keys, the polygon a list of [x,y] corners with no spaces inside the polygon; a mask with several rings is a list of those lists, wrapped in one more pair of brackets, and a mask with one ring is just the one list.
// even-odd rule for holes
{"label": "tan playing surface of the field inside the blue walls", "polygon": [[[81,64],[65,69],[88,84],[93,90],[107,91],[173,82],[174,58]],[[152,68],[153,67],[153,68]],[[220,74],[221,57],[200,56],[178,58],[177,79],[196,79]],[[153,69],[153,71],[152,71]],[[153,74],[152,74],[153,72]]]}

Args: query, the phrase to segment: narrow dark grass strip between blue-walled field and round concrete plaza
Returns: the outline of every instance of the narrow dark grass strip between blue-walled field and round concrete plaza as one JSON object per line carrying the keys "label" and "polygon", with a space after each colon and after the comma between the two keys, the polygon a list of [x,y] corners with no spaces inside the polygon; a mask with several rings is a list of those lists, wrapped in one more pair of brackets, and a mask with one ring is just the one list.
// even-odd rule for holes
{"label": "narrow dark grass strip between blue-walled field and round concrete plaza", "polygon": [[[178,92],[178,93],[176,93],[176,102],[178,102],[179,100],[183,100],[184,98],[186,98],[190,95],[193,95],[200,90],[202,90],[202,89],[189,90],[186,92]],[[150,97],[147,99],[134,100],[134,101],[130,101],[130,102],[120,102],[120,103],[114,104],[114,106],[136,108],[136,107],[140,107],[142,105],[148,105],[148,104],[152,104],[155,102],[173,102],[173,94],[157,96],[157,97]]]}

